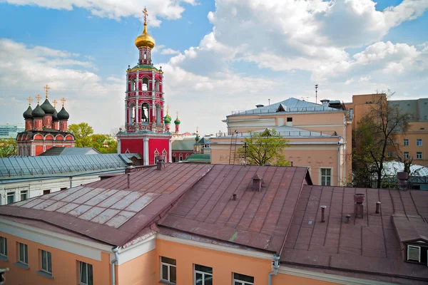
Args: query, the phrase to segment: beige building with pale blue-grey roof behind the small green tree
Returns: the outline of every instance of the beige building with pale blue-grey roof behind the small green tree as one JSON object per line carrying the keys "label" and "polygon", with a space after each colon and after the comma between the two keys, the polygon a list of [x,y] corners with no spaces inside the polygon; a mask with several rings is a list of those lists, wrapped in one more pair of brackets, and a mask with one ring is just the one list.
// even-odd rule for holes
{"label": "beige building with pale blue-grey roof behind the small green tree", "polygon": [[[334,106],[334,107],[332,107]],[[340,102],[315,104],[289,98],[279,103],[234,111],[223,122],[228,136],[211,138],[211,163],[242,164],[235,150],[250,132],[272,128],[290,141],[284,150],[294,166],[308,167],[317,185],[346,185],[352,173],[352,120]]]}

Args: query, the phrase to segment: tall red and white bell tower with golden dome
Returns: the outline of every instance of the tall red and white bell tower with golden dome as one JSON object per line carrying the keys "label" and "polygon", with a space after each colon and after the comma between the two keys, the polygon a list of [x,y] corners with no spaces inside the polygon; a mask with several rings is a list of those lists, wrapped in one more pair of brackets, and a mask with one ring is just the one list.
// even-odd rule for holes
{"label": "tall red and white bell tower with golden dome", "polygon": [[125,130],[117,137],[119,153],[138,153],[144,165],[151,165],[157,155],[163,155],[165,162],[171,161],[171,135],[170,120],[165,120],[169,115],[163,110],[163,71],[153,66],[155,39],[147,31],[146,8],[143,13],[143,33],[135,41],[138,64],[126,70]]}

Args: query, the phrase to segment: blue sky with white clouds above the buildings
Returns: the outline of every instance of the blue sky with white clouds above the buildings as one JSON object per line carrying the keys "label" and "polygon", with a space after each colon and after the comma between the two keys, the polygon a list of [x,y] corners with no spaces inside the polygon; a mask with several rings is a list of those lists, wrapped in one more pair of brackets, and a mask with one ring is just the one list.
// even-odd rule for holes
{"label": "blue sky with white clouds above the buildings", "polygon": [[23,123],[49,84],[69,123],[124,125],[145,6],[182,132],[225,131],[226,115],[269,99],[315,102],[315,84],[318,101],[428,97],[428,0],[0,0],[0,124]]}

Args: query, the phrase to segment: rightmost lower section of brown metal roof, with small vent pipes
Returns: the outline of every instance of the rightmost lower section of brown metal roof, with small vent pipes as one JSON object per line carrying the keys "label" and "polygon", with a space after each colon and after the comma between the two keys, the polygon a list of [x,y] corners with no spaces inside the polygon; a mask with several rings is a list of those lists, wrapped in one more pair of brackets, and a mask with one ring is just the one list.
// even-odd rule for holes
{"label": "rightmost lower section of brown metal roof, with small vent pipes", "polygon": [[[354,194],[365,194],[364,218],[354,217]],[[381,213],[375,214],[380,201]],[[321,222],[321,205],[326,205]],[[392,215],[410,222],[427,214],[428,192],[305,185],[280,261],[322,269],[355,271],[372,279],[394,281],[397,276],[428,281],[428,267],[404,262]],[[351,214],[350,224],[345,216]],[[382,279],[383,278],[383,279]],[[396,280],[395,280],[396,281]],[[403,281],[403,284],[412,284]]]}

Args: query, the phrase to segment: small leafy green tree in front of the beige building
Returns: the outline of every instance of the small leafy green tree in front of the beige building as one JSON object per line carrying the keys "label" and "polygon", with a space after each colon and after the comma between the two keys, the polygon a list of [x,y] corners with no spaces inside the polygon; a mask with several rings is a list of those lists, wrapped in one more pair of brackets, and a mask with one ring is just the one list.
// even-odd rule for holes
{"label": "small leafy green tree in front of the beige building", "polygon": [[245,157],[248,165],[265,165],[270,162],[276,166],[290,165],[283,155],[288,140],[276,132],[275,129],[266,129],[261,133],[250,133],[250,138],[245,138],[244,146],[237,151],[238,157]]}

